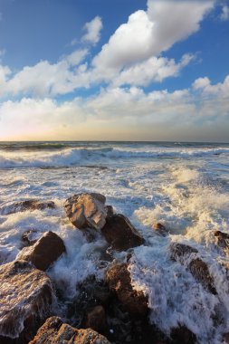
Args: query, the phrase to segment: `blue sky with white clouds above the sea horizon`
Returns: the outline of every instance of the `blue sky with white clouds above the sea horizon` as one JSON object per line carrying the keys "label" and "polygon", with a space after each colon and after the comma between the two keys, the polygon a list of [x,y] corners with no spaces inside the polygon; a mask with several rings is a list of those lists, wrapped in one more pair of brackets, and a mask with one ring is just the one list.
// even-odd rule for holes
{"label": "blue sky with white clouds above the sea horizon", "polygon": [[229,142],[229,1],[0,0],[0,140]]}

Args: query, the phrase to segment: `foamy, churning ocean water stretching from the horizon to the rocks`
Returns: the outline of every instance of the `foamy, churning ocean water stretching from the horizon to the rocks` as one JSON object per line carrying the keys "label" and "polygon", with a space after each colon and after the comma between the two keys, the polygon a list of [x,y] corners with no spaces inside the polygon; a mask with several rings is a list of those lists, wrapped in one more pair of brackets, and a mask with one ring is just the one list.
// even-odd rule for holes
{"label": "foamy, churning ocean water stretching from the horizon to the rocks", "polygon": [[[89,275],[108,264],[98,234],[89,243],[68,221],[64,200],[99,192],[127,215],[146,239],[132,250],[131,280],[148,295],[150,321],[169,334],[185,324],[199,343],[222,343],[229,331],[229,258],[215,245],[214,231],[229,234],[229,144],[165,142],[1,142],[0,261],[14,260],[26,230],[59,234],[67,254],[48,272],[66,298]],[[4,215],[5,205],[37,198],[55,209]],[[167,237],[152,226],[161,223]],[[207,263],[217,295],[202,287],[185,266],[170,260],[172,242],[189,244]],[[113,253],[118,261],[126,253]]]}

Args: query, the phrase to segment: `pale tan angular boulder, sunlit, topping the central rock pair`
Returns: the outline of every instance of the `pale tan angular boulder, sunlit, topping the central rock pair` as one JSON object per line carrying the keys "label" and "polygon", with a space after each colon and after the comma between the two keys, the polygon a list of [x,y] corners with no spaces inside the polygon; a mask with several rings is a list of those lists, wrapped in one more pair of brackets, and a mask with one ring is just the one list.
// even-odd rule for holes
{"label": "pale tan angular boulder, sunlit, topping the central rock pair", "polygon": [[68,198],[64,208],[72,225],[77,228],[101,229],[106,223],[106,197],[100,194],[78,194]]}

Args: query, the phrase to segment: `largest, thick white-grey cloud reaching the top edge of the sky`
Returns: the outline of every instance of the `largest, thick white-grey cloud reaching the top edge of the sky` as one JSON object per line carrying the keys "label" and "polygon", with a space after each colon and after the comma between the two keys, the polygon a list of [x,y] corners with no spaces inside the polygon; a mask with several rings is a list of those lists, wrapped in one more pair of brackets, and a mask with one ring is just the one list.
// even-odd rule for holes
{"label": "largest, thick white-grey cloud reaching the top edge of the sky", "polygon": [[[129,15],[94,58],[100,69],[121,70],[169,49],[199,29],[214,1],[148,0],[148,11]],[[172,14],[172,15],[171,15]]]}

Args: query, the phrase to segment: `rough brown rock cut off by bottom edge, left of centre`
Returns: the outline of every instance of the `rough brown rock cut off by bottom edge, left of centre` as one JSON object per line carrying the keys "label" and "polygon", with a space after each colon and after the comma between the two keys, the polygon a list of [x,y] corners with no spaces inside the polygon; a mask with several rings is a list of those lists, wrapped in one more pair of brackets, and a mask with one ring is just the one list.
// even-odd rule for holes
{"label": "rough brown rock cut off by bottom edge, left of centre", "polygon": [[48,343],[110,344],[110,341],[94,330],[77,330],[66,323],[62,323],[60,318],[52,317],[44,322],[29,344]]}

